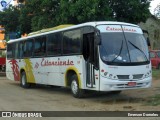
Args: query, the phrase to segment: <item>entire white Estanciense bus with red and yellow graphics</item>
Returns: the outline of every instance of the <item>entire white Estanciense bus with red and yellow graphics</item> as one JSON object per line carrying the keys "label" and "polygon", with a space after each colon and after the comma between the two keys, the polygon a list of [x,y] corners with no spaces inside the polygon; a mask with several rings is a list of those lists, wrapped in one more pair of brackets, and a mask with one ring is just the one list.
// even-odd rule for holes
{"label": "entire white Estanciense bus with red and yellow graphics", "polygon": [[74,97],[86,90],[149,88],[147,41],[141,28],[124,22],[87,22],[7,43],[7,78],[21,87],[69,87]]}

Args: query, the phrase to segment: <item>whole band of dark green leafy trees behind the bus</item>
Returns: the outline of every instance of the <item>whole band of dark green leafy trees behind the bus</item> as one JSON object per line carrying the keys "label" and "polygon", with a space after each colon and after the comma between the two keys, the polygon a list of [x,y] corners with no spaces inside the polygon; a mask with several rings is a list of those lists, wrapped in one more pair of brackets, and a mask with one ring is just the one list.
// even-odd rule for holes
{"label": "whole band of dark green leafy trees behind the bus", "polygon": [[[23,0],[22,0],[23,1]],[[144,22],[150,0],[26,0],[22,8],[0,12],[0,24],[7,31],[30,33],[59,24],[88,21]]]}

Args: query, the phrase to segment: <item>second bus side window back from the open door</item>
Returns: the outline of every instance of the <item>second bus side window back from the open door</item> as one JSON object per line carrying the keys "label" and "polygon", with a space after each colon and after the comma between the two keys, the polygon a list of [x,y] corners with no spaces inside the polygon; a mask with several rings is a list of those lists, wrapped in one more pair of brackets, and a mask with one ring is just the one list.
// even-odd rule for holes
{"label": "second bus side window back from the open door", "polygon": [[52,33],[48,35],[47,52],[48,55],[61,54],[61,33]]}

